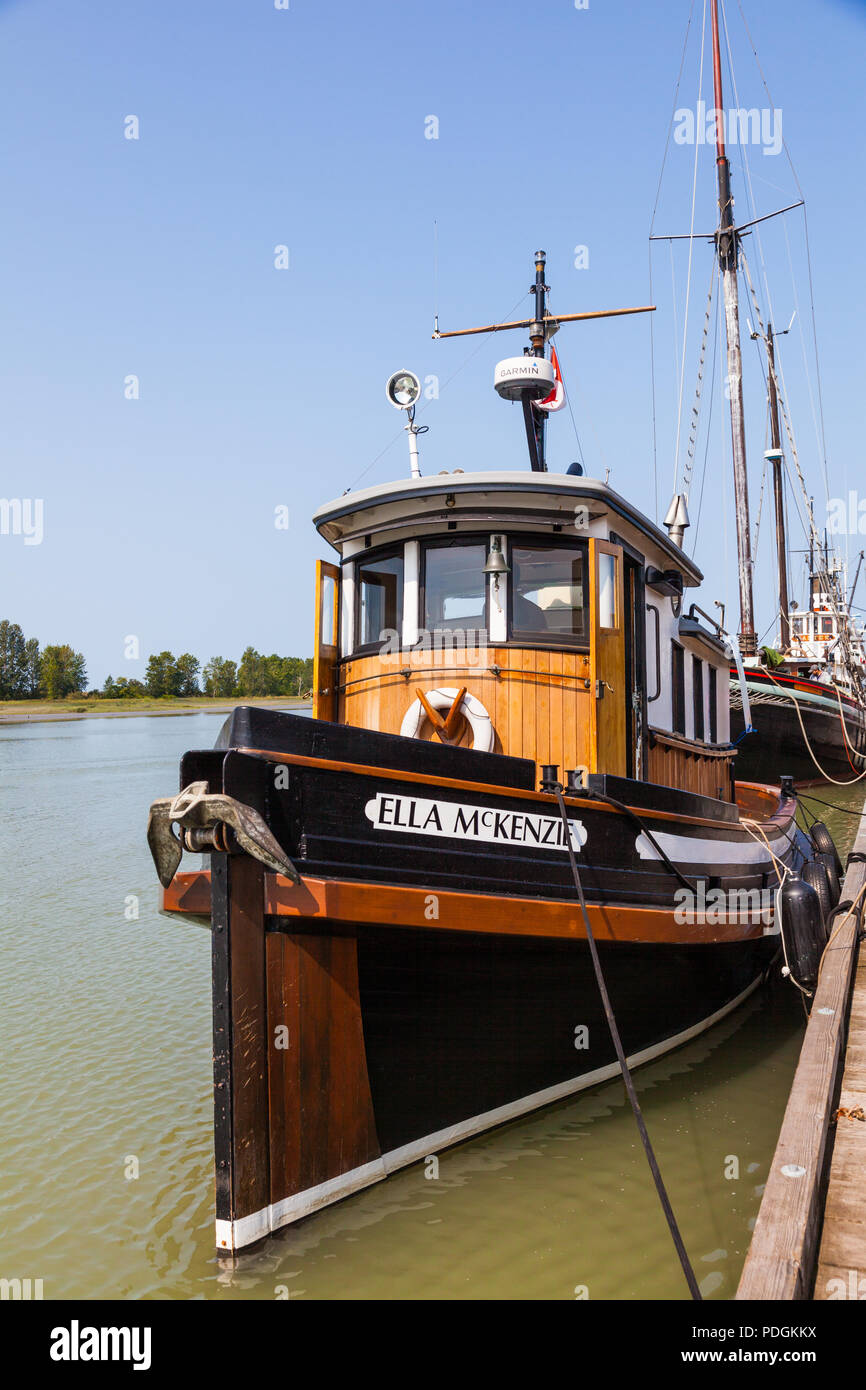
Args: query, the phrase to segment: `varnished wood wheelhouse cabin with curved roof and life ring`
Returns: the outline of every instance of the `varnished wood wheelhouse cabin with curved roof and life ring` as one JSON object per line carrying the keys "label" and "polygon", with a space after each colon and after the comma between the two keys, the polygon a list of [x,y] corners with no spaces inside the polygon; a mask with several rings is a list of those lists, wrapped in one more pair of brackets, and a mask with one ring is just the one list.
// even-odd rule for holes
{"label": "varnished wood wheelhouse cabin with curved roof and life ring", "polygon": [[610,486],[455,470],[314,521],[339,555],[317,719],[733,799],[728,655],[684,600],[701,571]]}

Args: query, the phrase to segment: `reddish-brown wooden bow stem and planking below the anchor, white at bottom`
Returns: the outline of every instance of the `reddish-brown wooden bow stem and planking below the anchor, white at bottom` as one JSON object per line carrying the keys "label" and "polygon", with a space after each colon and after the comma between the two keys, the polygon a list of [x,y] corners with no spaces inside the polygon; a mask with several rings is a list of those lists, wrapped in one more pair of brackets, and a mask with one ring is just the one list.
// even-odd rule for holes
{"label": "reddish-brown wooden bow stem and planking below the anchor, white at bottom", "polygon": [[215,1233],[224,1255],[385,1176],[357,940],[321,923],[282,930],[265,915],[274,878],[246,855],[213,855]]}

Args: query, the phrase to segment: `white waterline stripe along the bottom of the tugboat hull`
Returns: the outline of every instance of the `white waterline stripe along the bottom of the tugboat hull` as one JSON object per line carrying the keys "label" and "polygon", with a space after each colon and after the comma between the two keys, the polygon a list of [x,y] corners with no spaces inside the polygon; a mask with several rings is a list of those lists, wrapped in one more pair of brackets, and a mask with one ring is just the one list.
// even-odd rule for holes
{"label": "white waterline stripe along the bottom of the tugboat hull", "polygon": [[[723,1008],[716,1009],[714,1013],[710,1013],[699,1023],[684,1029],[674,1037],[664,1038],[662,1042],[656,1042],[652,1047],[632,1054],[628,1058],[628,1066],[631,1069],[644,1066],[646,1062],[653,1062],[656,1058],[664,1056],[664,1054],[673,1052],[676,1048],[683,1047],[685,1042],[691,1042],[692,1038],[706,1033],[708,1029],[713,1027],[713,1024],[721,1022],[721,1019],[727,1017],[728,1013],[733,1013],[734,1009],[740,1008],[740,1005],[744,1004],[751,994],[753,994],[760,984],[760,980],[762,976],[759,974],[745,990],[742,990],[741,994],[737,995],[737,998],[731,999]],[[461,1120],[457,1125],[450,1125],[448,1129],[439,1130],[435,1134],[427,1134],[424,1138],[414,1140],[413,1143],[405,1144],[388,1154],[382,1154],[381,1158],[374,1159],[370,1163],[363,1163],[352,1172],[341,1173],[338,1177],[332,1177],[325,1183],[317,1184],[316,1187],[309,1187],[306,1191],[293,1193],[291,1197],[272,1202],[247,1216],[242,1216],[235,1220],[217,1220],[217,1251],[221,1254],[234,1254],[235,1251],[243,1250],[284,1226],[289,1226],[304,1216],[310,1216],[314,1212],[321,1211],[321,1208],[329,1207],[332,1202],[342,1201],[357,1191],[361,1191],[364,1187],[371,1187],[374,1183],[382,1182],[392,1173],[399,1172],[402,1168],[409,1168],[411,1163],[420,1162],[430,1154],[442,1152],[443,1150],[452,1148],[455,1144],[464,1143],[466,1140],[474,1138],[477,1134],[482,1134],[487,1130],[496,1129],[500,1125],[507,1125],[510,1120],[520,1119],[523,1115],[528,1115],[530,1112],[541,1109],[545,1105],[553,1105],[557,1101],[567,1099],[569,1095],[575,1095],[578,1091],[585,1091],[592,1086],[602,1086],[605,1081],[610,1081],[619,1074],[619,1062],[596,1068],[594,1072],[587,1072],[585,1074],[577,1076],[570,1081],[549,1086],[532,1095],[524,1095],[518,1101],[512,1101],[507,1105],[500,1105],[482,1115],[474,1115],[471,1119]]]}

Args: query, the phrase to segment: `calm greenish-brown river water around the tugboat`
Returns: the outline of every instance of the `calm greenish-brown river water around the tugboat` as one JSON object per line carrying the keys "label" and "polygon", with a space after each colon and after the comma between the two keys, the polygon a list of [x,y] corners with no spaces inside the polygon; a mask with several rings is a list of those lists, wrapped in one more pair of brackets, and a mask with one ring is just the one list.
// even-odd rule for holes
{"label": "calm greenish-brown river water around the tugboat", "polygon": [[[215,1259],[210,935],[160,915],[145,821],[222,717],[0,728],[0,1276],[46,1298],[685,1297],[621,1083]],[[637,1073],[706,1297],[735,1291],[801,1030],[780,984]]]}

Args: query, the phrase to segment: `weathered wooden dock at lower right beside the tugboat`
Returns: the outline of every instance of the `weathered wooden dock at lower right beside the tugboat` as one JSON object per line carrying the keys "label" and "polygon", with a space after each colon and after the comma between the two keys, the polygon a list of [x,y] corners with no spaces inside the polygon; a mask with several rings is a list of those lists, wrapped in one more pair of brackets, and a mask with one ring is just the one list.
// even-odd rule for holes
{"label": "weathered wooden dock at lower right beside the tugboat", "polygon": [[[866,855],[866,806],[842,902],[866,884],[855,855]],[[866,952],[858,966],[855,915],[824,954],[738,1300],[866,1298],[866,1120],[835,1120],[840,1106],[866,1113]]]}

